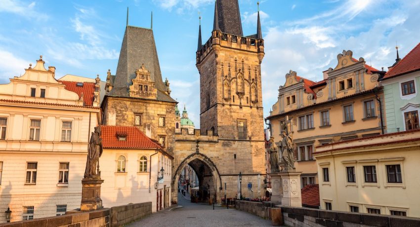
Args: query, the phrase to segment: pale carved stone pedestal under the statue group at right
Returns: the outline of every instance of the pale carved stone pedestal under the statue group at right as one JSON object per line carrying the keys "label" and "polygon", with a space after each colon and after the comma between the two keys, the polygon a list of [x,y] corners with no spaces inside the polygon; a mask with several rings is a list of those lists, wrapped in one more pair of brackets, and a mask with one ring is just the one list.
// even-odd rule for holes
{"label": "pale carved stone pedestal under the statue group at right", "polygon": [[281,202],[285,206],[302,207],[301,173],[288,170],[270,174],[272,186],[271,201]]}

